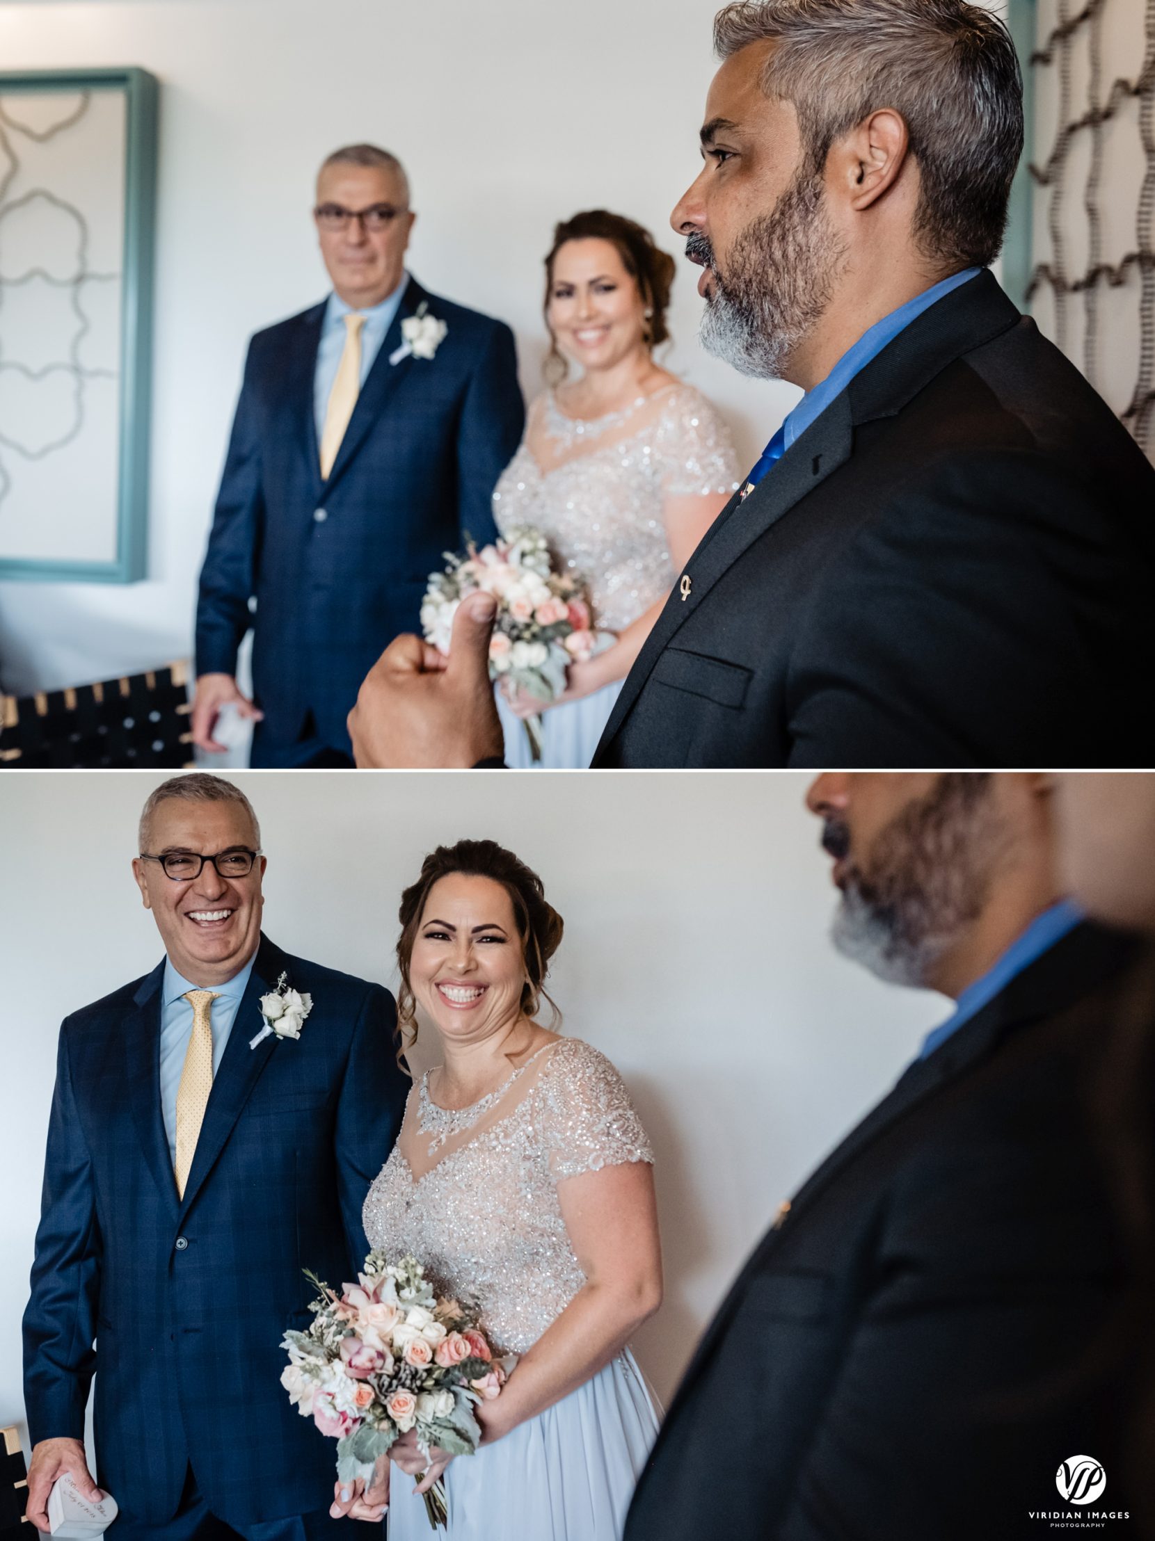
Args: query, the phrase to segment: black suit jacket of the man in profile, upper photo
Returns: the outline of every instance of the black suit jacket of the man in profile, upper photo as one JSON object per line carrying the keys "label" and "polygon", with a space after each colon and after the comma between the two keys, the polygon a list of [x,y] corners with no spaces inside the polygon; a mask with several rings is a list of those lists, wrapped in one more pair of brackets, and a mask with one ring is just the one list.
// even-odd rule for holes
{"label": "black suit jacket of the man in profile, upper photo", "polygon": [[595,766],[1133,766],[1155,470],[990,273],[722,512]]}

